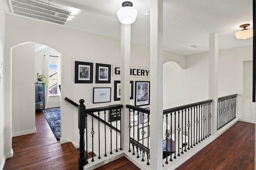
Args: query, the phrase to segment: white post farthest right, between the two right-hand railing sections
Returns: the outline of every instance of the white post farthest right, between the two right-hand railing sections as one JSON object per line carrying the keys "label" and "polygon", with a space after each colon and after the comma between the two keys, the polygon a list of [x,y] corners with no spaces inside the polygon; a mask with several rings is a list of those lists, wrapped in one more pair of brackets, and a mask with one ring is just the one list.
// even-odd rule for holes
{"label": "white post farthest right, between the two right-hand railing sections", "polygon": [[212,99],[212,135],[217,134],[218,117],[218,34],[209,34],[209,99]]}

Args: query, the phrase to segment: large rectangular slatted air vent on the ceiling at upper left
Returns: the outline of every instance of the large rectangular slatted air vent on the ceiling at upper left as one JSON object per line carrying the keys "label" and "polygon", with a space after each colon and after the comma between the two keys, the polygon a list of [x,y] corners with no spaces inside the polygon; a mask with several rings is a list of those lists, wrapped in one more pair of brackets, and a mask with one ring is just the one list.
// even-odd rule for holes
{"label": "large rectangular slatted air vent on the ceiling at upper left", "polygon": [[9,0],[11,12],[20,16],[65,25],[72,11],[35,0]]}

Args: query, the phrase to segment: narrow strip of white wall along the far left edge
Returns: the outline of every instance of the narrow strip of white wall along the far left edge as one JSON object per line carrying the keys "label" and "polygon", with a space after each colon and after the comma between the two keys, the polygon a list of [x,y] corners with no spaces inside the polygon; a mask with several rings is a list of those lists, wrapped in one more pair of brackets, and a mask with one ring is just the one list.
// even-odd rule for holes
{"label": "narrow strip of white wall along the far left edge", "polygon": [[[0,61],[4,62],[4,27],[5,27],[5,14],[3,8],[3,1],[0,1]],[[4,65],[4,63],[3,63]],[[4,148],[4,85],[3,73],[4,66],[0,68],[0,169],[4,168],[5,162],[5,148]]]}

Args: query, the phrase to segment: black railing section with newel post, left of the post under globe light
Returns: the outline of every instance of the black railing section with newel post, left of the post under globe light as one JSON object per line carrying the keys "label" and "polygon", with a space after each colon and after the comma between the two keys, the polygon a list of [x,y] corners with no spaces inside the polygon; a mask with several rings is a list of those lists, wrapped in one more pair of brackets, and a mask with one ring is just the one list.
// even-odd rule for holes
{"label": "black railing section with newel post, left of the post under globe light", "polygon": [[[109,127],[110,129],[110,154],[112,154],[112,131],[116,131],[116,152],[118,152],[118,134],[120,135],[121,138],[121,131],[118,129],[118,119],[117,117],[119,116],[121,119],[121,109],[123,105],[113,105],[113,106],[107,106],[107,107],[98,107],[98,108],[92,108],[92,109],[86,109],[86,106],[84,105],[84,100],[81,99],[79,100],[80,105],[76,104],[69,98],[65,98],[67,102],[70,104],[78,107],[78,128],[79,128],[79,133],[80,133],[80,157],[79,157],[79,169],[82,170],[83,167],[88,164],[88,154],[85,156],[85,140],[84,140],[84,134],[86,134],[86,153],[88,153],[88,115],[92,116],[92,130],[90,131],[90,134],[92,135],[91,141],[92,141],[92,162],[94,162],[94,135],[95,135],[95,127],[94,127],[94,119],[96,118],[98,120],[98,159],[100,159],[100,122],[104,123],[104,144],[105,144],[105,154],[104,156],[107,156],[106,154],[106,126]],[[106,121],[106,111],[111,111],[111,113],[115,113],[114,117],[116,117],[116,120],[112,120],[112,116],[110,116],[110,123]],[[100,113],[104,114],[104,119],[100,118]],[[95,115],[94,113],[98,113],[98,116]],[[112,124],[112,122],[116,122],[116,127]],[[121,127],[121,121],[120,125]],[[86,131],[85,131],[86,129]],[[121,128],[120,128],[121,129]],[[122,142],[120,140],[120,150],[122,150]]]}

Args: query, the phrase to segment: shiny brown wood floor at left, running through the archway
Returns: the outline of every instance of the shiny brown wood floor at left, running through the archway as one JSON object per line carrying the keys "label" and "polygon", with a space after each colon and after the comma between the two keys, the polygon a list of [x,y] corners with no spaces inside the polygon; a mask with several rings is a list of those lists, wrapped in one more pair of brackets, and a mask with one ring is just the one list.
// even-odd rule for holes
{"label": "shiny brown wood floor at left, running through the archway", "polygon": [[14,155],[4,170],[77,170],[79,153],[72,143],[60,145],[42,111],[36,113],[36,133],[12,138]]}

